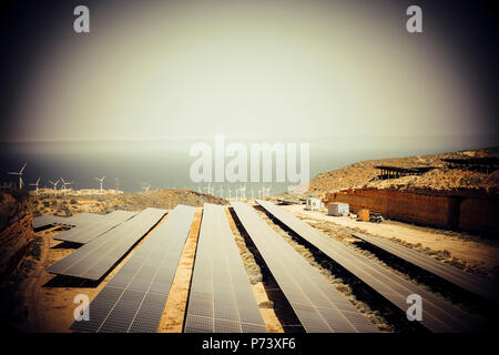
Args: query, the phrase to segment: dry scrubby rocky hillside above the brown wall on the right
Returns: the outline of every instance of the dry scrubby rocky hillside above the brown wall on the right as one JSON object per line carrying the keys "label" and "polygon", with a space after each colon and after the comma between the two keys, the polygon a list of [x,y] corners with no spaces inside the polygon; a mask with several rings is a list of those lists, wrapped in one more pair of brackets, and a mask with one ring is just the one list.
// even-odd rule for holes
{"label": "dry scrubby rocky hillside above the brown wall on the right", "polygon": [[[348,189],[396,189],[396,190],[480,190],[487,193],[499,192],[499,171],[482,173],[459,169],[449,169],[445,158],[486,158],[499,156],[499,148],[477,151],[461,151],[435,155],[420,155],[396,159],[380,159],[357,162],[327,173],[322,173],[310,181],[309,193],[318,194]],[[436,166],[424,175],[410,175],[399,179],[380,180],[376,165],[400,168]]]}

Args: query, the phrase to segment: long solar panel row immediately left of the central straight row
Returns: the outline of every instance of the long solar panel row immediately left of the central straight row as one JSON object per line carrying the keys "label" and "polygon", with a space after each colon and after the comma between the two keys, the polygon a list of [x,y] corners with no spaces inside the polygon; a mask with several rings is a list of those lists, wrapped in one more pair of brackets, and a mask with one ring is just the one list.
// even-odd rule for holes
{"label": "long solar panel row immediately left of the central straight row", "polygon": [[90,321],[74,322],[70,328],[156,332],[195,211],[177,205],[90,303]]}

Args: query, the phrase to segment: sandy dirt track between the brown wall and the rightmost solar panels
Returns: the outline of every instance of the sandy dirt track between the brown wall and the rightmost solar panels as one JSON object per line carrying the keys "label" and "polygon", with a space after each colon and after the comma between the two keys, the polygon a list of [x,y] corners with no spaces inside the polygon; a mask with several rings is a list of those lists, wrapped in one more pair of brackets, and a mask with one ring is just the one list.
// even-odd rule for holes
{"label": "sandy dirt track between the brown wall and the rightmost solar panels", "polygon": [[283,207],[309,223],[317,221],[332,222],[354,231],[401,241],[435,252],[442,252],[440,254],[447,255],[448,258],[457,258],[465,264],[486,268],[488,273],[495,273],[499,268],[499,243],[496,241],[465,233],[420,227],[401,222],[359,222],[347,216],[330,216],[319,211],[306,211],[304,205],[284,205]]}

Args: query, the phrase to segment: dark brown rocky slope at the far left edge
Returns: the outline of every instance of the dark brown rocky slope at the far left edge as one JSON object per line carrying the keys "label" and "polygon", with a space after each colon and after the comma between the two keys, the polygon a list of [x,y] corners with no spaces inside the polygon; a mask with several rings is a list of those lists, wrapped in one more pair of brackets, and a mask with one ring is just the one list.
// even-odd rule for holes
{"label": "dark brown rocky slope at the far left edge", "polygon": [[0,190],[0,281],[19,263],[33,239],[29,194]]}

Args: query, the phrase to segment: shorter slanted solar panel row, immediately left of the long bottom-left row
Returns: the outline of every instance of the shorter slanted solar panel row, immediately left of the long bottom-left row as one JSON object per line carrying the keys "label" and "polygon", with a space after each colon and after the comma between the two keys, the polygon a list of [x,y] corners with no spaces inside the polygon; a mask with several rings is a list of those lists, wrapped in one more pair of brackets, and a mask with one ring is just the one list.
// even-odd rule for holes
{"label": "shorter slanted solar panel row, immediately left of the long bottom-left row", "polygon": [[115,226],[105,237],[98,237],[49,266],[53,274],[98,281],[144,236],[166,211],[145,209],[133,219]]}

